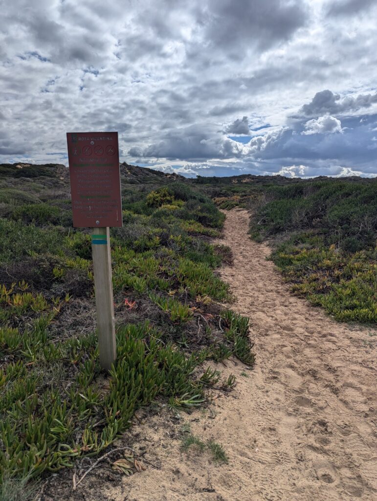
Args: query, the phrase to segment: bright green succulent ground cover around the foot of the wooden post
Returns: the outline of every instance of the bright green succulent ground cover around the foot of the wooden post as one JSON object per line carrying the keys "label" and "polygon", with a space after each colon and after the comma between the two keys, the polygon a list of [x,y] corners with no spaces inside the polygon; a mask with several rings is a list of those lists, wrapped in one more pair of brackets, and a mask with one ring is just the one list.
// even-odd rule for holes
{"label": "bright green succulent ground cover around the foot of the wooden post", "polygon": [[[199,402],[201,383],[193,377],[193,370],[203,357],[178,356],[173,346],[159,342],[160,334],[148,324],[118,330],[118,358],[106,391],[95,382],[99,372],[95,338],[70,339],[53,346],[46,327],[45,323],[42,331],[31,333],[41,339],[26,359],[32,357],[35,366],[18,361],[0,371],[4,389],[0,399],[2,477],[33,478],[45,470],[70,466],[77,457],[100,452],[130,426],[135,410],[158,394],[174,397],[182,406]],[[17,341],[11,341],[12,336],[17,333],[0,331],[0,346],[10,353],[23,350]],[[65,385],[67,378],[70,381],[67,391],[46,384],[43,367],[54,360],[64,361],[60,376]]]}

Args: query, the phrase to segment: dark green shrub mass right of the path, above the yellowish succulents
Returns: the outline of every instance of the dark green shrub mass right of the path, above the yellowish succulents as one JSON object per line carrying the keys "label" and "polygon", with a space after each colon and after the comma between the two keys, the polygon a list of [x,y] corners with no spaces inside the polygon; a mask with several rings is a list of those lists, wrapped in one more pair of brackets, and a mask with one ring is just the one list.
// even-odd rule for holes
{"label": "dark green shrub mass right of the path, above the yellowish succulents", "polygon": [[377,182],[324,180],[274,186],[265,190],[265,203],[251,218],[251,232],[265,236],[311,228],[322,231],[329,244],[341,246],[346,239],[344,249],[373,247]]}

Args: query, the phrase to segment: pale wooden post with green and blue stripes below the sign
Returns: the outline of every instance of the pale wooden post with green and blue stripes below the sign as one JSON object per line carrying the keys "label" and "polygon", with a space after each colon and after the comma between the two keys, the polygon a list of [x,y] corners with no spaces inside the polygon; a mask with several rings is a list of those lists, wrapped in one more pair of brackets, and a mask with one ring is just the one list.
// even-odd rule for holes
{"label": "pale wooden post with green and blue stripes below the sign", "polygon": [[93,228],[92,253],[100,364],[103,369],[109,371],[111,364],[115,362],[117,354],[110,256],[110,228]]}

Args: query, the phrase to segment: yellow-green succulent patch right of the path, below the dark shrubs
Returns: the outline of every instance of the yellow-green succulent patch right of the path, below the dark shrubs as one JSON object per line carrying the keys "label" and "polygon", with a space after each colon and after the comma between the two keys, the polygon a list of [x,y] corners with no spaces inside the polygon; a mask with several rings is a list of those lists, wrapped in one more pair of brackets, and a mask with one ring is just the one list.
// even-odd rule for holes
{"label": "yellow-green succulent patch right of the path, below the dark shrubs", "polygon": [[271,259],[294,282],[295,294],[306,296],[337,320],[377,321],[377,250],[343,252],[306,232],[280,244]]}

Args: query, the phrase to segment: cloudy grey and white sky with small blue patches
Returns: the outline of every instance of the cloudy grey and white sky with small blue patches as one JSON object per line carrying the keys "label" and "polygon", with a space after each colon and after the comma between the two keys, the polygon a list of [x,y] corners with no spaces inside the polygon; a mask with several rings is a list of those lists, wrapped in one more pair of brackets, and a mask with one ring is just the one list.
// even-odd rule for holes
{"label": "cloudy grey and white sky with small blue patches", "polygon": [[184,175],[377,175],[376,0],[1,3],[0,162],[66,132]]}

